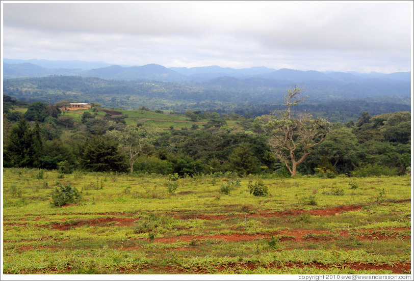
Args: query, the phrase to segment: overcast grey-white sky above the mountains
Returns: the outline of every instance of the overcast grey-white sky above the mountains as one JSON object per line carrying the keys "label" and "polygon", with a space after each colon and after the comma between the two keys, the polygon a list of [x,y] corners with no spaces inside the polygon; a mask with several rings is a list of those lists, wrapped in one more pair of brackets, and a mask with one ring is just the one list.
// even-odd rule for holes
{"label": "overcast grey-white sky above the mountains", "polygon": [[413,2],[2,2],[7,59],[411,70]]}

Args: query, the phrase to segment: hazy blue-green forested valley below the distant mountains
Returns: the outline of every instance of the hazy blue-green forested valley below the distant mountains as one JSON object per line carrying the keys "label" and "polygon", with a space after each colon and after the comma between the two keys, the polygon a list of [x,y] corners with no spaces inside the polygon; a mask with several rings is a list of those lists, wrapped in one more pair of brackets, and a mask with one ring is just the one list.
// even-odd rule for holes
{"label": "hazy blue-green forested valley below the distant mountains", "polygon": [[[365,81],[365,80],[364,80]],[[203,82],[162,82],[149,80],[106,80],[81,76],[47,76],[4,80],[4,95],[13,99],[55,104],[96,102],[108,108],[134,110],[146,106],[153,110],[186,109],[236,113],[257,117],[282,108],[289,80],[218,77]],[[356,120],[363,111],[379,115],[410,111],[409,82],[357,80],[340,85],[331,81],[307,81],[305,104],[298,110],[329,122]],[[327,94],[328,93],[328,94]],[[381,95],[378,93],[386,93]]]}

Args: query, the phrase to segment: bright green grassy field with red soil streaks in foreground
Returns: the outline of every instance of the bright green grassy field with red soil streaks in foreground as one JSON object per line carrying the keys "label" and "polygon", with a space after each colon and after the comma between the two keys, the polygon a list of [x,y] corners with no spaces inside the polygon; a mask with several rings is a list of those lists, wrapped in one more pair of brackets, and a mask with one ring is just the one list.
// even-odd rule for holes
{"label": "bright green grassy field with red soil streaks in foreground", "polygon": [[[408,176],[263,179],[253,196],[254,176],[3,171],[4,274],[411,273]],[[53,207],[59,184],[82,200]]]}

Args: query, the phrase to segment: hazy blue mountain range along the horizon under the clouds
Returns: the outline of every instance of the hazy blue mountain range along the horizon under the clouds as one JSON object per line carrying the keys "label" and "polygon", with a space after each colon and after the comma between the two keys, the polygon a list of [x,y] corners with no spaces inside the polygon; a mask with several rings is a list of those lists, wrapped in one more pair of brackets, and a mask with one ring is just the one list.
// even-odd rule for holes
{"label": "hazy blue mountain range along the horizon under the clouds", "polygon": [[[98,66],[98,67],[97,67]],[[304,83],[309,81],[325,82],[358,82],[364,79],[389,79],[395,81],[411,81],[411,72],[356,73],[356,72],[319,72],[293,69],[271,69],[267,67],[251,67],[243,69],[208,67],[172,67],[166,68],[157,64],[144,66],[119,66],[99,62],[80,61],[47,61],[47,60],[11,60],[4,59],[3,78],[45,77],[50,75],[96,77],[110,80],[153,80],[163,82],[205,82],[219,77],[236,79],[262,79],[273,81],[289,81]],[[234,81],[234,79],[232,80]],[[269,82],[269,81],[267,81]]]}

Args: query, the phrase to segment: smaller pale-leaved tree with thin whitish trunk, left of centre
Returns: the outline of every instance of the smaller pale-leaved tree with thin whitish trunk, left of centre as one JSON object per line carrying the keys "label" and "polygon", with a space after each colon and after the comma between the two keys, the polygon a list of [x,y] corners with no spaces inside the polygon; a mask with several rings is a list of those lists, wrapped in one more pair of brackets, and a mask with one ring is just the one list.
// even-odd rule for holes
{"label": "smaller pale-leaved tree with thin whitish trunk, left of centre", "polygon": [[108,136],[116,139],[119,149],[127,155],[131,174],[134,172],[134,163],[153,143],[157,134],[157,130],[143,126],[127,126],[123,131],[112,130],[107,132]]}

